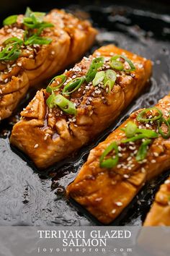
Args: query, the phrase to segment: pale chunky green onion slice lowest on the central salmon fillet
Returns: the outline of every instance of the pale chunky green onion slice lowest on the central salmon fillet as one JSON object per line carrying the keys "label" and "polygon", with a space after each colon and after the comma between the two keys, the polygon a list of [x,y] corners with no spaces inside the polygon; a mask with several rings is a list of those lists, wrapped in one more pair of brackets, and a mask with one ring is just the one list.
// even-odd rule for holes
{"label": "pale chunky green onion slice lowest on the central salmon fillet", "polygon": [[46,103],[49,108],[54,108],[55,106],[58,106],[66,114],[76,116],[76,107],[74,106],[74,104],[71,101],[68,101],[67,98],[64,98],[61,94],[55,95],[55,93],[52,93],[48,97]]}

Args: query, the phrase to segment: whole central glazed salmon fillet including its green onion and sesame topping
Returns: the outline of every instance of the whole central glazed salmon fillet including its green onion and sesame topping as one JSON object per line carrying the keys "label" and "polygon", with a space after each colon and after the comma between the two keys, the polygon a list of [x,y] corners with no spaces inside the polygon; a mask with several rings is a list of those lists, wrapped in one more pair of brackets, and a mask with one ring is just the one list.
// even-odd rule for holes
{"label": "whole central glazed salmon fillet including its green onion and sesame topping", "polygon": [[10,142],[38,168],[61,161],[112,124],[146,86],[151,70],[151,61],[129,51],[97,49],[37,92]]}

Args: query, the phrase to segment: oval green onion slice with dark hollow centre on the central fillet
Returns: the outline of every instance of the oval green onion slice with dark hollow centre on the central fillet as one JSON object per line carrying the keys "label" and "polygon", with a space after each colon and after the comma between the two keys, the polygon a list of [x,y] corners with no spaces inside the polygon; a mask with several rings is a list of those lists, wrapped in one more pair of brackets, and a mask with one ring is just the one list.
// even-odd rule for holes
{"label": "oval green onion slice with dark hollow centre on the central fillet", "polygon": [[81,78],[77,77],[71,82],[68,82],[68,84],[63,88],[63,94],[69,95],[75,92],[75,90],[78,90],[81,87],[84,81],[85,81],[84,77],[81,77]]}

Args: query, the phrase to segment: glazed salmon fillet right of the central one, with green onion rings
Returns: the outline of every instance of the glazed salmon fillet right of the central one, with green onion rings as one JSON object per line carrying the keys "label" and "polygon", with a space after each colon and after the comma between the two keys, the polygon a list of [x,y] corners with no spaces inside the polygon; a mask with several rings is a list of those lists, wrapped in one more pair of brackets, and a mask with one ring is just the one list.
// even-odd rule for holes
{"label": "glazed salmon fillet right of the central one, with green onion rings", "polygon": [[[160,121],[163,118],[168,119],[170,95],[159,101],[156,108],[162,114]],[[142,111],[146,111],[146,114],[151,116],[157,116],[154,114],[156,108],[151,111],[140,109],[131,114],[104,142],[91,150],[78,176],[68,185],[67,194],[102,223],[114,221],[146,182],[170,167],[170,139],[164,139],[159,134],[160,127],[158,129],[157,120],[146,123],[138,121],[139,116],[143,114]],[[169,127],[169,124],[167,125]],[[134,131],[138,131],[133,135],[133,139],[130,137],[132,127]],[[162,121],[161,130],[164,133],[167,132],[167,127]],[[127,135],[125,131],[128,131]],[[138,135],[140,135],[138,140],[134,140]],[[152,139],[146,139],[146,136],[152,136]],[[103,163],[101,159],[106,152],[104,150],[108,150],[107,147],[112,142],[116,143],[117,148],[108,153],[111,155],[109,161],[110,159],[117,161],[117,158],[119,160],[115,166],[108,167],[109,163]],[[113,153],[116,150],[117,154]],[[104,164],[107,166],[102,166]]]}

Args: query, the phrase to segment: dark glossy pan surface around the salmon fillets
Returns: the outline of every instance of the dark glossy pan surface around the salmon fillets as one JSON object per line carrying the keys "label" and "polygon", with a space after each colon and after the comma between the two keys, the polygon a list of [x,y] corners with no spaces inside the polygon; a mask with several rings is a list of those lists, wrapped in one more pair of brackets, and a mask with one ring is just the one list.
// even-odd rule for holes
{"label": "dark glossy pan surface around the salmon fillets", "polygon": [[[68,9],[74,12],[76,10],[77,14],[82,15],[79,5],[69,6]],[[166,12],[166,6],[161,9]],[[1,226],[99,225],[100,223],[79,205],[66,199],[66,186],[76,177],[86,161],[89,150],[104,140],[109,132],[128,117],[128,114],[138,108],[155,104],[170,91],[170,16],[124,6],[102,8],[86,5],[84,12],[88,13],[96,27],[100,27],[97,43],[91,52],[104,44],[115,43],[117,46],[151,59],[154,64],[151,85],[138,100],[133,101],[112,127],[99,136],[98,140],[82,148],[77,155],[47,170],[48,177],[38,173],[26,155],[10,148],[9,135],[14,118],[3,121],[0,124]],[[84,13],[83,15],[86,16]],[[22,104],[23,106],[25,103]],[[158,189],[158,184],[161,184],[169,173],[170,171],[166,171],[156,181],[147,184],[112,225],[141,225]]]}

